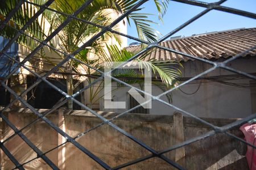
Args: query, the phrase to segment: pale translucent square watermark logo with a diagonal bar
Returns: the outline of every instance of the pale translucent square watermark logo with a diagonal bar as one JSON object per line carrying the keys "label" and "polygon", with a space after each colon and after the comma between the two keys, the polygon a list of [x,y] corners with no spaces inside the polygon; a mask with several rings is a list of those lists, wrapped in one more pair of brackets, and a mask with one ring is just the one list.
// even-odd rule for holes
{"label": "pale translucent square watermark logo with a diagonal bar", "polygon": [[[138,71],[139,74],[143,74],[143,91],[148,94],[152,94],[151,88],[151,67],[150,62],[105,62],[104,63],[104,108],[105,109],[125,109],[126,101],[113,101],[112,96],[112,76],[115,69],[118,67],[119,71],[122,69],[135,70]],[[114,77],[114,76],[113,76]],[[116,80],[115,80],[116,81]],[[131,84],[134,85],[134,84]],[[142,105],[145,109],[151,109],[151,96],[149,95],[141,95],[134,87],[131,87],[129,91],[127,91],[135,100],[138,101],[140,105]],[[147,102],[147,103],[145,103]]]}

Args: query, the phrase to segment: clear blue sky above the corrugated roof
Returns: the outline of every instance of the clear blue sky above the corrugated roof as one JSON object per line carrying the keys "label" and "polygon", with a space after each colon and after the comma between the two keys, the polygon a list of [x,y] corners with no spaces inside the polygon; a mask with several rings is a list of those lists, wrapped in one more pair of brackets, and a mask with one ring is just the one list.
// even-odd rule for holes
{"label": "clear blue sky above the corrugated roof", "polygon": [[[216,1],[205,0],[204,2]],[[238,8],[240,10],[256,13],[256,0],[228,0],[225,3],[222,3],[222,6]],[[141,12],[155,14],[153,16],[150,16],[149,19],[153,20],[156,23],[159,23],[152,24],[152,27],[162,33],[162,35],[166,35],[168,32],[171,32],[173,29],[179,27],[179,25],[183,24],[184,22],[191,19],[193,16],[199,14],[205,9],[203,7],[186,5],[184,3],[171,1],[166,15],[164,15],[162,23],[158,20],[158,12],[154,6],[154,1],[148,1],[144,3],[142,7],[144,7],[144,9]],[[227,12],[212,10],[201,18],[197,19],[195,22],[189,24],[187,27],[181,29],[173,36],[191,36],[193,34],[224,31],[228,29],[244,27],[256,27],[256,20],[246,18],[244,16],[229,14]],[[138,37],[137,31],[133,24],[131,25],[131,27],[128,26],[127,33],[129,35]],[[128,39],[128,44],[130,44],[131,42],[135,41]]]}

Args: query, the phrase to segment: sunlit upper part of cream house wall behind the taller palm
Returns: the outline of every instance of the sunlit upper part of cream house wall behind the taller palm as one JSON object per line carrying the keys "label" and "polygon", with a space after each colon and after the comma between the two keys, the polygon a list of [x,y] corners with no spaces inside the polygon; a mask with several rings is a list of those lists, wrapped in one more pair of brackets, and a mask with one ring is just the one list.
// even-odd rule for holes
{"label": "sunlit upper part of cream house wall behind the taller palm", "polygon": [[[36,10],[36,9],[35,9]],[[112,9],[107,9],[105,10],[110,13],[111,21],[114,21],[117,19],[121,14],[119,12],[112,10]],[[39,16],[38,18],[39,23],[42,20],[42,16]],[[127,22],[126,19],[121,20],[116,26],[115,30],[127,34]],[[45,27],[45,34],[48,35],[49,29],[50,29],[50,24],[46,21],[44,21],[44,27]],[[61,36],[61,31],[57,33],[56,36],[54,36],[51,39],[52,46],[56,49],[59,49],[60,51],[63,51],[63,45],[61,45],[61,40],[59,38]],[[118,35],[117,35],[118,36]],[[111,45],[117,45],[119,48],[124,48],[127,46],[127,38],[123,36],[118,36],[121,44],[118,44],[116,39],[114,37],[108,39],[106,41],[106,44],[111,44]],[[79,46],[84,44],[86,41],[88,41],[91,38],[91,36],[86,37],[84,40],[81,40],[81,43]],[[31,39],[27,38],[27,41],[30,42]],[[32,40],[32,42],[35,44],[34,46],[36,47],[40,43],[38,41]],[[106,47],[104,47],[106,49]],[[20,61],[22,61],[24,58],[28,56],[28,54],[31,53],[33,49],[28,49],[26,46],[19,45],[19,57]],[[63,60],[64,56],[63,54],[59,52],[55,52],[55,50],[49,49],[47,46],[43,47],[44,50],[44,56],[40,56],[39,54],[35,54],[34,57],[30,59],[30,61],[26,62],[26,66],[28,66],[31,70],[35,71],[36,73],[42,73],[42,70],[47,71],[51,70],[53,66],[57,65],[60,61]],[[90,53],[88,57],[93,58],[95,55],[93,53]],[[43,62],[42,62],[43,61]],[[65,63],[63,65],[63,68],[65,68]],[[41,70],[38,70],[41,69]],[[85,70],[82,66],[79,66],[80,73],[86,74]],[[22,68],[22,74],[31,74],[29,71],[26,69]],[[52,75],[51,75],[52,76]],[[55,75],[56,76],[56,75]]]}

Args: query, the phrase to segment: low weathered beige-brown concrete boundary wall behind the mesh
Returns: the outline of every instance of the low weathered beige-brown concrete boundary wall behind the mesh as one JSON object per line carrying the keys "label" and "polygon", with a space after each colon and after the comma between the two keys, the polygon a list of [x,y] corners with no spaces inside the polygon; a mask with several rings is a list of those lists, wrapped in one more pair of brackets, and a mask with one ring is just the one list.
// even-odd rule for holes
{"label": "low weathered beige-brown concrete boundary wall behind the mesh", "polygon": [[[42,113],[46,111],[47,110],[43,109],[40,110]],[[99,118],[92,116],[89,112],[73,111],[71,115],[67,115],[67,113],[68,112],[64,112],[64,116],[62,116],[62,114],[55,112],[47,117],[54,124],[60,126],[60,128],[71,137],[76,137],[77,134],[101,123]],[[5,114],[19,129],[36,118],[36,116],[31,113],[31,111],[28,111],[28,109],[10,111]],[[115,113],[104,112],[99,112],[99,114],[102,114],[102,116],[107,118],[115,115]],[[235,121],[234,119],[216,118],[206,118],[205,120],[218,126]],[[184,129],[180,129],[181,126],[177,126],[179,124],[181,125],[182,122],[184,124]],[[5,124],[1,124],[3,127],[2,137],[3,140],[5,140],[13,134],[13,131],[7,128]],[[180,135],[175,135],[175,131],[180,131],[181,134],[183,132],[183,138],[188,140],[211,130],[208,126],[189,117],[184,117],[184,120],[177,124],[177,121],[174,121],[173,116],[167,115],[127,114],[126,116],[115,120],[114,124],[134,135],[134,137],[140,139],[155,150],[163,150],[164,148],[171,147],[175,143],[182,141]],[[238,129],[233,129],[230,132],[242,137],[241,132]],[[61,138],[56,131],[49,128],[49,126],[42,121],[27,128],[23,133],[43,152],[46,152],[57,146],[58,143],[60,144],[65,141],[65,139]],[[179,138],[177,138],[178,136]],[[137,143],[131,141],[131,139],[125,137],[108,125],[103,125],[100,128],[90,131],[82,137],[77,138],[76,141],[109,164],[110,167],[115,167],[119,164],[150,154],[150,152],[139,146]],[[7,141],[4,145],[20,163],[36,158],[35,152],[32,151],[19,137],[10,139],[10,141]],[[183,149],[185,157],[181,155],[178,162],[187,169],[247,169],[244,156],[237,152],[237,150],[241,152],[240,143],[225,135],[217,134],[213,137],[185,146]],[[55,149],[46,155],[58,165],[60,169],[102,169],[100,165],[95,163],[71,143],[67,143],[63,147]],[[179,152],[172,151],[164,155],[169,159],[177,160]],[[14,167],[3,152],[1,152],[1,158],[1,169],[11,169]],[[35,159],[26,164],[24,168],[50,169],[42,159]],[[152,158],[124,169],[174,168],[159,158]]]}

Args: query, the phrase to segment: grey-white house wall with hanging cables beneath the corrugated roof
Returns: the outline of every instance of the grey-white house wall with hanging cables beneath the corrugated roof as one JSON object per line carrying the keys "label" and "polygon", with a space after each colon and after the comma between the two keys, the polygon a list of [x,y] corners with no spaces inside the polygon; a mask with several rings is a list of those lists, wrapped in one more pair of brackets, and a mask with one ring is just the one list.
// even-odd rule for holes
{"label": "grey-white house wall with hanging cables beneath the corrugated roof", "polygon": [[[217,61],[221,62],[223,60],[223,58],[220,58]],[[229,63],[228,66],[245,71],[246,73],[256,73],[256,58],[238,58]],[[180,68],[183,76],[192,77],[209,69],[211,65],[200,61],[187,61],[183,63],[183,67],[183,69]],[[235,73],[226,71],[224,69],[216,69],[203,76],[225,76],[231,74]],[[250,80],[251,79],[240,78],[230,79],[228,82],[245,83],[248,85],[250,84]],[[196,92],[197,88],[199,89]],[[127,91],[129,90],[130,88],[123,87],[119,90],[113,91],[113,99],[115,99],[115,101],[129,101],[127,100]],[[191,83],[182,86],[181,90],[192,95],[186,95],[180,90],[174,90],[172,91],[172,104],[179,107],[183,111],[187,111],[199,117],[243,118],[253,113],[251,106],[253,105],[252,102],[254,101],[251,101],[250,88],[234,87],[218,82],[211,82],[209,80],[193,80]],[[193,94],[194,92],[195,94]],[[159,87],[152,86],[153,95],[159,95],[161,93],[162,90],[160,90]],[[166,96],[163,96],[161,99],[168,102]],[[126,111],[129,105],[129,103],[126,104],[126,109],[107,110],[104,109],[103,103],[104,100],[102,99],[100,101],[102,111],[114,111],[118,113]],[[175,111],[177,110],[168,107],[159,101],[152,101],[152,109],[150,109],[150,114],[172,114]]]}

